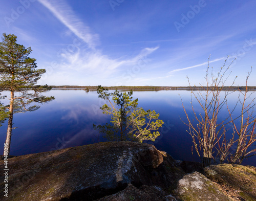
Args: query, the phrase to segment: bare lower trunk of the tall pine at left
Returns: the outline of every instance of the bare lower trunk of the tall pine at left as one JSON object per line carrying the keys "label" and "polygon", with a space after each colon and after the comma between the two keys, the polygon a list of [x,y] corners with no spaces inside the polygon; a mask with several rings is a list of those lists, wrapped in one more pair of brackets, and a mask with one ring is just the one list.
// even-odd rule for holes
{"label": "bare lower trunk of the tall pine at left", "polygon": [[14,92],[11,91],[11,99],[10,99],[10,115],[8,120],[8,127],[7,127],[7,135],[6,135],[6,141],[5,145],[7,145],[7,152],[4,152],[4,155],[8,155],[10,153],[10,146],[11,146],[11,137],[12,137],[12,120],[13,120],[13,98],[14,98]]}

